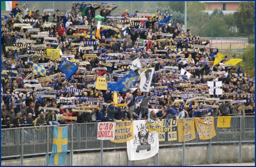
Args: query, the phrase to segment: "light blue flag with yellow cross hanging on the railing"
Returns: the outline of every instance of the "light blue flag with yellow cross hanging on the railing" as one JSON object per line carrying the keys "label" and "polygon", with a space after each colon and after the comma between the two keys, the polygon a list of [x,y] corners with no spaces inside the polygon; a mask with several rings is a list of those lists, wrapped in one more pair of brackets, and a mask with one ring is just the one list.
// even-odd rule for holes
{"label": "light blue flag with yellow cross hanging on the railing", "polygon": [[67,135],[68,127],[53,126],[52,154],[49,164],[65,165],[67,155]]}

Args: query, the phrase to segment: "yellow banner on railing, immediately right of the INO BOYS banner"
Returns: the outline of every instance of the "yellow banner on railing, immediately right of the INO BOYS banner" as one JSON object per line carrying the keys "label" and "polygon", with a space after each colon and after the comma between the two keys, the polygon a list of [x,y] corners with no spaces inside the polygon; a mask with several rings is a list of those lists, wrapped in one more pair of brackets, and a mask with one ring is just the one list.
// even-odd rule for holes
{"label": "yellow banner on railing, immediately right of the INO BOYS banner", "polygon": [[190,141],[195,139],[194,118],[178,119],[178,135],[179,142]]}

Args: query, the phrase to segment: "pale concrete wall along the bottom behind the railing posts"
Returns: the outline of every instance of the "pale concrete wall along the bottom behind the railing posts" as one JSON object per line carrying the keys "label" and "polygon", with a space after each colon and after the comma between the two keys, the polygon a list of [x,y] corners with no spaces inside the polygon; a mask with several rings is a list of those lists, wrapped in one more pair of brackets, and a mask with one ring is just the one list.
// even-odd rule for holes
{"label": "pale concrete wall along the bottom behind the railing posts", "polygon": [[[208,164],[208,146],[196,146],[185,148],[185,165]],[[242,163],[252,163],[255,161],[255,145],[242,145]],[[69,165],[69,155],[66,158],[66,165]],[[182,165],[182,148],[159,149],[158,161],[160,166]],[[211,146],[211,163],[239,163],[239,146],[224,145]],[[19,166],[19,159],[1,161],[2,166]],[[45,166],[45,157],[29,158],[23,160],[25,166]],[[99,166],[100,153],[86,153],[73,155],[74,166]],[[112,151],[103,153],[104,166],[127,166],[128,156],[126,151]],[[156,157],[150,159],[132,161],[132,166],[155,166]]]}

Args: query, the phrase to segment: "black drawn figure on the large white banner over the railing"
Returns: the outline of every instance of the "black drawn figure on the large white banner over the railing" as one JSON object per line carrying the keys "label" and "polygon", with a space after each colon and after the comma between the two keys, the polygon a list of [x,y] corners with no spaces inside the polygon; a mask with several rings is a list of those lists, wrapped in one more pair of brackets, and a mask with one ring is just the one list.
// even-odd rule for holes
{"label": "black drawn figure on the large white banner over the railing", "polygon": [[138,135],[134,136],[133,144],[136,146],[136,153],[139,153],[140,150],[151,150],[151,143],[154,143],[154,133],[151,133],[149,135],[149,129],[146,125],[140,124],[139,126],[136,126],[138,129]]}

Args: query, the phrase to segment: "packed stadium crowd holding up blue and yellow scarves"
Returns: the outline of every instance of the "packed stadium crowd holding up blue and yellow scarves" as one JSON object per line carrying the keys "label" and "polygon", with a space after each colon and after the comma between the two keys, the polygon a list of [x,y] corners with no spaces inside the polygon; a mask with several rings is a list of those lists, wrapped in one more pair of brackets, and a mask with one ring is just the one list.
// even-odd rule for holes
{"label": "packed stadium crowd holding up blue and yellow scarves", "polygon": [[[190,29],[184,32],[179,23],[171,21],[168,11],[129,14],[126,9],[112,17],[118,7],[73,3],[70,11],[62,13],[60,9],[34,12],[26,4],[22,8],[16,4],[11,13],[2,14],[2,128],[255,114],[254,78],[240,67],[225,65],[228,55],[213,65],[218,48],[192,35]],[[101,38],[96,37],[98,9],[104,17]],[[47,49],[59,49],[60,58],[46,55]],[[123,107],[112,104],[111,89],[95,89],[97,76],[115,82],[129,74],[132,60],[138,57],[142,70],[155,68],[148,112],[143,109],[141,115],[139,97],[147,93],[140,92],[139,80],[125,93],[118,93]],[[70,79],[58,67],[62,58],[78,67]],[[33,72],[33,64],[46,72],[41,76]],[[140,76],[140,69],[134,71]],[[221,81],[223,94],[209,95],[207,81]]]}

